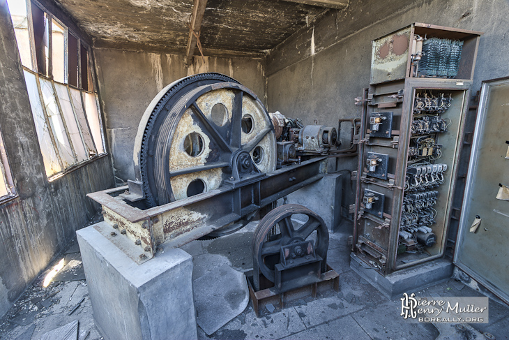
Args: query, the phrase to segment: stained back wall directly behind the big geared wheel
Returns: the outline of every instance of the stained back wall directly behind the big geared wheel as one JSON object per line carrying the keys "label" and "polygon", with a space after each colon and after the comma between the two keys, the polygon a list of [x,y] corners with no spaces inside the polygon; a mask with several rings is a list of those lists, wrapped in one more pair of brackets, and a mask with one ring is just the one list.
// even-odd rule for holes
{"label": "stained back wall directly behind the big geared wheel", "polygon": [[117,181],[134,179],[132,151],[139,120],[153,97],[167,84],[196,73],[233,77],[266,101],[264,59],[195,57],[185,68],[176,54],[95,49],[99,91],[105,111],[107,139]]}

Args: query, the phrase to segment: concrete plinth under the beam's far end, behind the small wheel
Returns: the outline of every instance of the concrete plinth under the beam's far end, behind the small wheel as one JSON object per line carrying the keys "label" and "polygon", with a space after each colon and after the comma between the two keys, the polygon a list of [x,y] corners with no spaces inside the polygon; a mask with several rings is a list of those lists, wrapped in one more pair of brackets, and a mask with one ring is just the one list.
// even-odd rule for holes
{"label": "concrete plinth under the beam's far end, behind the small wheel", "polygon": [[316,212],[329,230],[337,231],[341,221],[341,174],[328,174],[313,184],[298,189],[278,201],[282,204],[298,204]]}

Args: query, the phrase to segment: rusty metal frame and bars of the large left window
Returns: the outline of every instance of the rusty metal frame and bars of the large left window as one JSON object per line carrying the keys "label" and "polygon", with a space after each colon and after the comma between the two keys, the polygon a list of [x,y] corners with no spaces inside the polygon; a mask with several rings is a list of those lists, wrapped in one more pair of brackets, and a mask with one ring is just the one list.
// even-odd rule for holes
{"label": "rusty metal frame and bars of the large left window", "polygon": [[[24,71],[31,73],[32,75],[34,75],[36,77],[37,91],[38,91],[38,95],[40,98],[40,103],[43,106],[43,114],[44,114],[44,118],[45,118],[45,124],[48,128],[48,133],[49,133],[51,141],[52,141],[52,147],[54,148],[56,158],[57,158],[60,168],[61,168],[61,171],[55,172],[53,175],[47,175],[47,179],[50,182],[52,182],[54,179],[57,179],[63,175],[66,175],[68,172],[72,172],[76,168],[80,168],[83,165],[91,163],[92,161],[96,160],[97,158],[102,158],[103,156],[107,156],[108,152],[107,152],[106,145],[105,145],[105,134],[104,134],[105,131],[104,131],[104,126],[103,126],[104,120],[102,117],[102,110],[100,108],[100,101],[99,101],[99,96],[98,96],[98,84],[96,81],[95,69],[93,68],[93,51],[91,49],[91,46],[88,43],[84,42],[84,40],[82,38],[79,38],[79,34],[77,34],[72,28],[68,27],[61,20],[59,20],[55,15],[53,15],[50,12],[50,10],[47,10],[47,8],[45,8],[45,6],[43,6],[43,4],[41,4],[40,2],[38,2],[36,0],[24,0],[24,1],[26,3],[26,18],[27,18],[28,31],[29,31],[29,40],[30,40],[29,41],[29,46],[30,46],[29,52],[30,52],[30,56],[31,56],[31,64],[33,66],[33,69],[31,69],[23,64],[22,64],[22,68]],[[48,41],[48,52],[47,52],[47,55],[48,55],[47,75],[44,73],[40,73],[40,70],[39,70],[38,54],[37,54],[38,52],[36,50],[35,32],[34,32],[34,27],[33,27],[32,6],[37,6],[40,10],[43,11],[43,13],[45,13],[46,24],[48,25],[47,27],[45,27],[45,29],[47,29],[49,32],[49,34],[48,34],[48,40],[49,40]],[[63,43],[63,45],[64,45],[64,57],[63,57],[64,82],[59,82],[59,81],[54,80],[54,75],[53,75],[53,57],[54,57],[53,56],[53,41],[52,41],[53,40],[53,34],[52,34],[53,21],[56,22],[57,24],[59,24],[59,26],[64,28],[64,43]],[[68,40],[69,40],[70,35],[72,35],[77,40],[77,86],[69,83],[70,70],[69,70],[69,41]],[[86,65],[82,65],[82,56],[81,56],[82,50],[86,50],[86,54],[87,54],[86,55]],[[87,77],[87,83],[90,81],[92,82],[91,84],[88,84],[86,89],[84,89],[82,87],[83,66],[86,67],[85,73],[86,73],[86,77]],[[90,74],[91,79],[88,78],[89,74]],[[72,164],[68,165],[67,167],[63,163],[63,158],[61,156],[61,149],[60,149],[61,143],[56,142],[55,135],[54,135],[55,131],[54,131],[54,128],[52,127],[52,124],[50,122],[50,115],[47,113],[47,108],[46,108],[47,105],[43,98],[43,91],[41,89],[41,79],[49,81],[51,83],[52,91],[53,91],[52,98],[54,99],[54,101],[56,103],[56,110],[58,110],[58,114],[62,121],[63,131],[65,131],[65,133],[66,133],[68,145],[73,153],[74,162]],[[88,158],[86,158],[82,161],[78,161],[77,149],[73,145],[73,138],[71,137],[71,135],[69,133],[68,124],[66,122],[66,115],[63,112],[61,100],[59,98],[59,95],[57,94],[55,84],[59,84],[59,85],[62,85],[63,87],[66,87],[66,91],[67,91],[67,94],[69,96],[70,103],[71,103],[70,108],[73,110],[73,117],[75,119],[77,129],[79,131],[79,137],[80,137],[82,145],[85,149],[85,154],[88,154]],[[92,89],[91,91],[89,90],[90,88]],[[79,91],[80,103],[75,103],[76,100],[71,95],[71,89],[75,89],[75,90]],[[91,94],[96,101],[99,128],[100,128],[100,142],[102,143],[102,150],[103,150],[102,154],[98,154],[98,147],[97,147],[96,143],[99,141],[94,140],[93,131],[91,130],[89,118],[87,117],[86,105],[84,103],[84,94],[85,93]],[[82,113],[84,115],[83,118],[84,118],[84,121],[86,122],[86,126],[84,126],[84,124],[83,124],[83,126],[82,126],[82,124],[80,124],[79,116],[81,116],[81,114],[79,114],[79,112],[77,112],[75,105],[79,105],[79,107],[82,109],[82,111],[83,111]],[[33,110],[32,110],[32,114],[33,114]],[[93,147],[93,150],[89,149],[89,147],[87,146],[87,143],[85,142],[85,138],[84,138],[85,132],[83,131],[83,129],[85,129],[85,128],[88,129],[88,131],[86,131],[86,132],[88,132],[90,135],[90,138],[91,138],[90,146]],[[38,136],[38,140],[39,140],[39,136]],[[42,152],[42,149],[41,149],[41,152]],[[12,179],[12,177],[11,177],[11,179]],[[1,200],[0,200],[0,203],[1,203]]]}

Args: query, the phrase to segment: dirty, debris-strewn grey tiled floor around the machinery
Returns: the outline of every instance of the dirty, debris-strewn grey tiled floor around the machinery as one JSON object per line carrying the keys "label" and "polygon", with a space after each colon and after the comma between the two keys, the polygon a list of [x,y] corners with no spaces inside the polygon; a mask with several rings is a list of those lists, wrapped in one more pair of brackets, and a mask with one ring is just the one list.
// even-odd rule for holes
{"label": "dirty, debris-strewn grey tiled floor around the machinery", "polygon": [[[183,246],[182,249],[193,256],[193,276],[198,277],[223,263],[241,272],[250,269],[251,239],[255,227],[256,223],[250,223],[233,235]],[[198,338],[427,340],[439,337],[439,331],[432,324],[404,320],[400,316],[400,300],[388,300],[350,269],[347,238],[351,235],[351,223],[343,223],[340,230],[342,232],[331,234],[328,251],[328,264],[340,274],[339,293],[326,293],[317,299],[301,299],[273,313],[264,310],[262,312],[266,315],[261,318],[256,317],[250,302],[243,313],[210,337],[198,327]],[[75,272],[79,272],[79,267]],[[40,339],[46,332],[73,320],[79,321],[79,340],[102,339],[93,323],[86,281],[59,281],[43,288],[41,283],[45,274],[0,320],[0,339]],[[213,282],[211,289],[221,291]],[[408,293],[418,296],[483,296],[453,279]],[[68,315],[82,299],[79,307]],[[509,307],[490,299],[489,323],[472,326],[480,332],[493,334],[496,339],[509,339]]]}

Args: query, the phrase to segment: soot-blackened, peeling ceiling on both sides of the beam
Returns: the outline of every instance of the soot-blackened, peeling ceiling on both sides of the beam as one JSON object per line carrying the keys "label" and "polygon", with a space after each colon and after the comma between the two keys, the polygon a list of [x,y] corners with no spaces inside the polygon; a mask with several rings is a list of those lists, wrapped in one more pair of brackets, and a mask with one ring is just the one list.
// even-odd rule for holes
{"label": "soot-blackened, peeling ceiling on both sides of the beam", "polygon": [[[188,43],[193,0],[56,2],[96,47],[182,52]],[[200,40],[209,55],[263,54],[337,3],[345,0],[208,0]]]}

